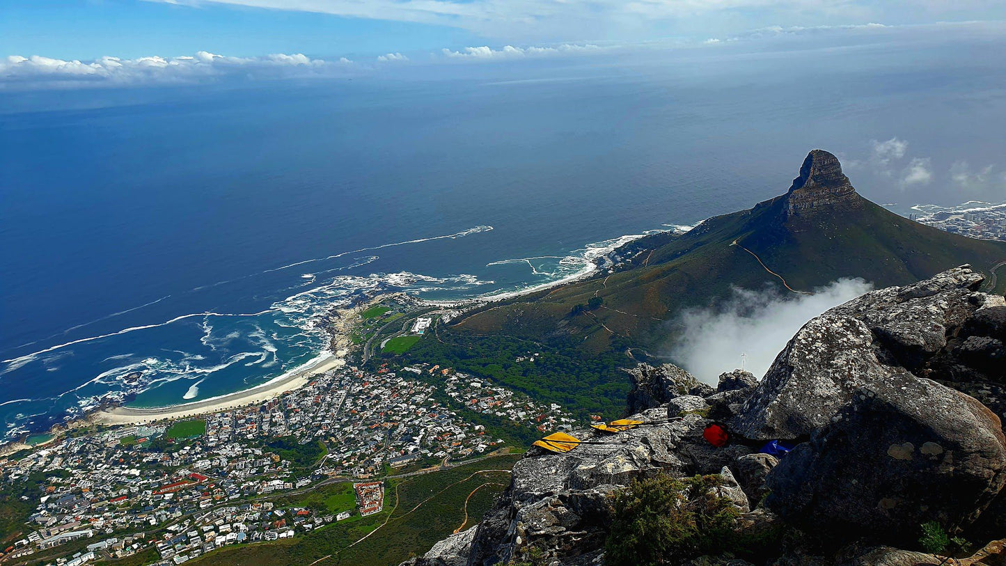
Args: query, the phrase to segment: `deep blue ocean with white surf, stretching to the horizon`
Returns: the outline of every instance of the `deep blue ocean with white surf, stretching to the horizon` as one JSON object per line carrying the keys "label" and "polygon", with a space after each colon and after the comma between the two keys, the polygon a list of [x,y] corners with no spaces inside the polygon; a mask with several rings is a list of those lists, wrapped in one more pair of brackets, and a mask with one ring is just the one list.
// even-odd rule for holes
{"label": "deep blue ocean with white surf, stretching to the horizon", "polygon": [[[5,93],[0,436],[110,392],[264,383],[317,356],[313,321],[361,290],[560,278],[591,246],[785,192],[816,147],[859,162],[877,202],[962,202],[947,171],[997,159],[1006,112],[1002,74],[960,57]],[[866,163],[893,136],[939,175],[923,192]]]}

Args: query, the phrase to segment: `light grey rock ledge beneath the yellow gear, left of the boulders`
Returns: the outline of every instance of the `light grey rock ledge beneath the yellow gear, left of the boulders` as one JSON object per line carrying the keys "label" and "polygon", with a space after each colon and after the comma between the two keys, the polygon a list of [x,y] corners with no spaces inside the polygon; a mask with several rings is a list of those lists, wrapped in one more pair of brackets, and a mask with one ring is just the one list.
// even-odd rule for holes
{"label": "light grey rock ledge beneath the yellow gear, left of the boulders", "polygon": [[[662,421],[665,411],[651,409],[631,418]],[[610,524],[608,496],[615,490],[658,474],[678,478],[717,474],[739,453],[749,451],[743,446],[709,446],[702,438],[708,422],[690,414],[618,434],[577,430],[573,436],[605,443],[581,444],[569,454],[529,451],[514,465],[510,488],[479,525],[469,564],[505,564],[520,559],[532,546],[542,550],[544,564],[568,566],[597,559]],[[710,457],[706,449],[721,453]],[[732,476],[723,489],[739,507],[746,504]]]}

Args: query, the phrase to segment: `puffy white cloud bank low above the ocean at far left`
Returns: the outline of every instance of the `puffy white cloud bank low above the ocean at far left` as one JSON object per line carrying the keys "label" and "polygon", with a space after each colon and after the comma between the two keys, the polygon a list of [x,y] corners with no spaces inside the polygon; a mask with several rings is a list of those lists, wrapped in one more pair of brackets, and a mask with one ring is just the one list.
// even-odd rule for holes
{"label": "puffy white cloud bank low above the ocean at far left", "polygon": [[186,83],[227,76],[252,79],[332,76],[351,66],[352,61],[345,57],[326,61],[301,53],[229,57],[197,51],[195,55],[178,57],[106,56],[94,61],[10,55],[0,58],[0,88]]}

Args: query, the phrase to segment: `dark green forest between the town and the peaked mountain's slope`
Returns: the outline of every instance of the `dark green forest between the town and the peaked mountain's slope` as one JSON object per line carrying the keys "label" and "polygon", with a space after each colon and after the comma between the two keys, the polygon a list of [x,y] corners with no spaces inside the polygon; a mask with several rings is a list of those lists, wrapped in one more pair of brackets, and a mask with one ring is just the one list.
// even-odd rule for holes
{"label": "dark green forest between the town and the peaked mountain's slope", "polygon": [[[541,355],[534,362],[516,361],[538,352]],[[580,418],[592,413],[622,416],[630,381],[620,368],[632,363],[621,351],[592,356],[561,338],[535,342],[504,335],[475,336],[440,326],[401,360],[440,364],[488,378],[532,398],[558,403]]]}

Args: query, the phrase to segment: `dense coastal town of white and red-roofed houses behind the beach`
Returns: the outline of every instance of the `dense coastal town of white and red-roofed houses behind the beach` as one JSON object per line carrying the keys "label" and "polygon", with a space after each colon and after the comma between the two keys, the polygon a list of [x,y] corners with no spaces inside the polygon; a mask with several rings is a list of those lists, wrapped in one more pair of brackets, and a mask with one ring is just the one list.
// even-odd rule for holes
{"label": "dense coastal town of white and red-roofed houses behind the beach", "polygon": [[[429,322],[411,327],[418,334]],[[80,566],[155,550],[150,563],[167,566],[298,537],[381,513],[388,478],[507,445],[473,417],[538,430],[576,424],[557,404],[452,368],[321,367],[265,401],[71,429],[0,457],[0,487],[30,507],[0,563]],[[323,485],[345,486],[337,505],[297,504]]]}

